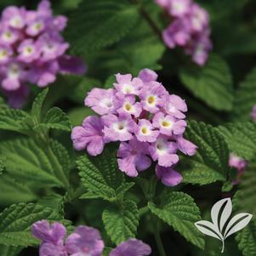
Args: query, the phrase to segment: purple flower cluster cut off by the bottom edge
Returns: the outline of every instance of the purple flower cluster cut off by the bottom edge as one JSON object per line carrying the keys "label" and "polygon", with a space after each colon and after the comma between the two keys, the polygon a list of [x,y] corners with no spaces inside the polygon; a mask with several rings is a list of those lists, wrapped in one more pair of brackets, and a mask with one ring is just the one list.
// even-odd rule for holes
{"label": "purple flower cluster cut off by the bottom edge", "polygon": [[[39,256],[100,256],[104,242],[100,232],[88,226],[78,226],[70,236],[66,236],[65,226],[47,220],[37,221],[31,228],[32,235],[41,240]],[[114,248],[110,256],[145,256],[151,253],[151,247],[137,239],[129,239]]]}

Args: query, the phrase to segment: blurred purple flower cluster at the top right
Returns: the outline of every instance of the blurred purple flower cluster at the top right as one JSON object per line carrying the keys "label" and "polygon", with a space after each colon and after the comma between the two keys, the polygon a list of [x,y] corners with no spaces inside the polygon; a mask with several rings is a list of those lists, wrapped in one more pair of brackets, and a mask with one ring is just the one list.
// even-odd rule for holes
{"label": "blurred purple flower cluster at the top right", "polygon": [[180,46],[198,65],[208,60],[212,49],[208,13],[193,0],[156,0],[170,15],[171,23],[162,32],[169,48]]}

